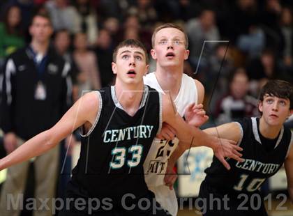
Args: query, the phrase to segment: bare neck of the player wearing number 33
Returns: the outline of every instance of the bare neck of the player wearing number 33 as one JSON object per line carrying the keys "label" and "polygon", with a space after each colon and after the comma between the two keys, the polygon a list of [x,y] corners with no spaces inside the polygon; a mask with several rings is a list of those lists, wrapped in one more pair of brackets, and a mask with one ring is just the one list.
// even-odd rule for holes
{"label": "bare neck of the player wearing number 33", "polygon": [[134,116],[140,108],[142,95],[144,94],[144,84],[123,84],[117,82],[115,84],[115,95],[123,109],[130,115]]}

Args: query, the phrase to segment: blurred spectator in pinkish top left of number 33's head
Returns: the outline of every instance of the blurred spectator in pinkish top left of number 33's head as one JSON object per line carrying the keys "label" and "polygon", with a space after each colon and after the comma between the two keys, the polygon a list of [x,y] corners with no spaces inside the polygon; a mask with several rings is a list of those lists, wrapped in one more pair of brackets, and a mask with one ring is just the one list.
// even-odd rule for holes
{"label": "blurred spectator in pinkish top left of number 33's head", "polygon": [[100,72],[96,54],[87,49],[87,36],[85,33],[75,34],[74,48],[73,59],[80,71],[77,76],[78,96],[80,97],[82,96],[82,91],[100,89]]}

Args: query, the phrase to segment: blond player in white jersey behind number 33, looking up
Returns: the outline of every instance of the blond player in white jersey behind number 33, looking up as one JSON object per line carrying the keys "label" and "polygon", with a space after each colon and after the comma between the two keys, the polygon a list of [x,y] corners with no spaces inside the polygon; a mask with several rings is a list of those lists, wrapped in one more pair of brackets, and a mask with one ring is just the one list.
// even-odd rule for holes
{"label": "blond player in white jersey behind number 33, looking up", "polygon": [[[177,112],[181,116],[185,113],[186,106],[192,103],[198,105],[195,106],[197,107],[196,109],[202,109],[200,104],[204,100],[204,86],[196,79],[183,74],[184,61],[188,59],[189,55],[188,37],[185,31],[180,26],[174,24],[163,24],[158,26],[153,32],[151,43],[153,47],[151,49],[151,56],[156,61],[156,72],[144,77],[144,84],[148,84],[157,91],[163,91],[170,95]],[[204,114],[202,115],[202,122],[207,119],[207,116]],[[194,125],[201,124],[195,123]],[[171,130],[169,127],[163,127],[159,137],[172,137],[170,134],[174,134],[174,130]],[[173,139],[172,141],[155,139],[144,162],[145,180],[149,190],[156,195],[158,203],[165,210],[168,210],[171,215],[177,215],[178,211],[176,194],[174,190],[170,189],[172,184],[168,185],[170,187],[165,185],[164,177],[166,169],[170,173],[170,166],[167,167],[168,158],[172,153],[180,155],[183,149],[186,149],[183,148],[183,145],[178,144],[178,139]],[[192,147],[202,145],[204,144],[199,141],[191,144]],[[180,148],[176,148],[177,146]],[[235,148],[234,145],[232,146],[227,147]],[[227,169],[229,169],[229,164],[225,161],[224,157],[242,160],[240,158],[241,154],[236,151],[227,155],[227,151],[223,151],[223,147],[225,148],[223,145],[207,147],[213,148],[215,156],[218,157]],[[238,146],[236,147],[238,148]],[[237,151],[241,151],[241,148],[238,148]],[[223,157],[223,155],[225,156]],[[174,178],[176,177],[174,176]]]}

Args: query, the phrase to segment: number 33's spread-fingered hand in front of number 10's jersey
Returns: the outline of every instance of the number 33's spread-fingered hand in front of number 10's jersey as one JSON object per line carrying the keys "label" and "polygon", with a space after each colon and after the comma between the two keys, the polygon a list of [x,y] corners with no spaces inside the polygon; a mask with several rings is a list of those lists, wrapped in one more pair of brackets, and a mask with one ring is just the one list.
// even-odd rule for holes
{"label": "number 33's spread-fingered hand in front of number 10's jersey", "polygon": [[230,139],[218,139],[218,145],[213,148],[213,154],[222,162],[224,167],[227,170],[230,170],[231,167],[228,162],[225,160],[225,157],[232,158],[239,162],[243,162],[242,154],[239,151],[243,151],[243,149],[236,145],[236,141],[232,141]]}

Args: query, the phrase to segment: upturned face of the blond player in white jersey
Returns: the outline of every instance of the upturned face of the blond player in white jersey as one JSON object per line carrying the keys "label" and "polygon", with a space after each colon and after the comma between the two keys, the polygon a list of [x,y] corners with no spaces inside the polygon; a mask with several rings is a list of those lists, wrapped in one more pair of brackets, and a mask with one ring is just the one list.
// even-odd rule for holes
{"label": "upturned face of the blond player in white jersey", "polygon": [[179,29],[160,29],[156,33],[151,56],[161,67],[183,66],[183,61],[188,59],[189,54],[185,43],[184,33]]}

